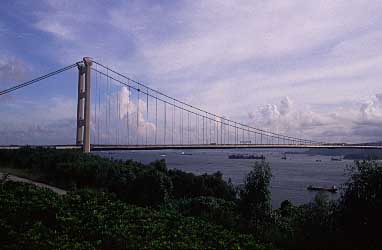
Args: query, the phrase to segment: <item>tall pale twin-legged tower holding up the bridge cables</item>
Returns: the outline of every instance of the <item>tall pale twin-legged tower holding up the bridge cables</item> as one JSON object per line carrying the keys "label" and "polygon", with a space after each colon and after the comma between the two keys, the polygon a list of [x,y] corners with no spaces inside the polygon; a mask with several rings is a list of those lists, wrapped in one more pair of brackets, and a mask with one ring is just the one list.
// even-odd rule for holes
{"label": "tall pale twin-legged tower holding up the bridge cables", "polygon": [[78,68],[78,102],[77,102],[77,134],[76,144],[82,145],[85,153],[90,152],[90,86],[91,86],[90,57],[84,57],[77,63]]}

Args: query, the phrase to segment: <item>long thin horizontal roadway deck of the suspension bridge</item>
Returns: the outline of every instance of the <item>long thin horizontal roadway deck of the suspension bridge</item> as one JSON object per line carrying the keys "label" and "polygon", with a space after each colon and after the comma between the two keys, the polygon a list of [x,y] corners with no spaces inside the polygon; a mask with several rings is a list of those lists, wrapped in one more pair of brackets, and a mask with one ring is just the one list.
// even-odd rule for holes
{"label": "long thin horizontal roadway deck of the suspension bridge", "polygon": [[[1,146],[0,149],[19,149],[26,145],[8,145]],[[81,149],[78,145],[28,145],[30,147],[46,147],[55,149]],[[168,144],[168,145],[91,145],[92,151],[109,151],[109,150],[163,150],[163,149],[382,149],[380,145],[362,145],[362,144]]]}

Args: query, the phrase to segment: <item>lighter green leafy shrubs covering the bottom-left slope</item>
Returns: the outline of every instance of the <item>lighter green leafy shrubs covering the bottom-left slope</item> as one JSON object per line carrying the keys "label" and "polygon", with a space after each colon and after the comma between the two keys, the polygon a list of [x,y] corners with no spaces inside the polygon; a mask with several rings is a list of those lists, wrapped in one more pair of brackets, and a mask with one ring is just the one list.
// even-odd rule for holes
{"label": "lighter green leafy shrubs covering the bottom-left slope", "polygon": [[0,186],[2,249],[270,249],[250,235],[177,213],[127,205],[107,193],[58,196],[29,184]]}

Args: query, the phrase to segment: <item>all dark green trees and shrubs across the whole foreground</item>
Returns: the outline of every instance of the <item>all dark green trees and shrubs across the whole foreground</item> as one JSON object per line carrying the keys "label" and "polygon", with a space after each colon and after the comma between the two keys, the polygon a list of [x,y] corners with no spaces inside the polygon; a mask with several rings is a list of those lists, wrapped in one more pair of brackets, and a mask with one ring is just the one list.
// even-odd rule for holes
{"label": "all dark green trees and shrubs across the whole foreground", "polygon": [[59,197],[2,183],[5,249],[382,248],[382,166],[373,161],[356,163],[338,201],[319,194],[277,210],[266,162],[254,165],[240,190],[220,173],[195,176],[161,161],[142,165],[77,151],[0,151],[0,167],[73,190]]}

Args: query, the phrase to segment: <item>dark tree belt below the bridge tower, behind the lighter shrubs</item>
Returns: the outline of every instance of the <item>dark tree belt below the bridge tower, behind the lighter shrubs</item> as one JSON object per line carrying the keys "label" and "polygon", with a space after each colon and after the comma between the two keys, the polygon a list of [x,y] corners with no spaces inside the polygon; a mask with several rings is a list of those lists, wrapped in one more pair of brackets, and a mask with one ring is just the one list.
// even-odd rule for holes
{"label": "dark tree belt below the bridge tower, behind the lighter shrubs", "polygon": [[64,189],[109,191],[141,206],[156,207],[170,198],[235,198],[232,185],[223,180],[221,173],[195,176],[180,170],[167,170],[163,160],[143,165],[83,154],[78,150],[24,147],[0,150],[0,165],[31,171],[41,176],[39,181]]}

